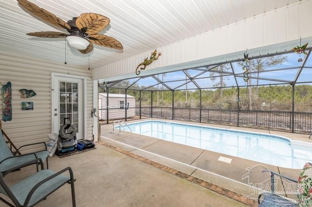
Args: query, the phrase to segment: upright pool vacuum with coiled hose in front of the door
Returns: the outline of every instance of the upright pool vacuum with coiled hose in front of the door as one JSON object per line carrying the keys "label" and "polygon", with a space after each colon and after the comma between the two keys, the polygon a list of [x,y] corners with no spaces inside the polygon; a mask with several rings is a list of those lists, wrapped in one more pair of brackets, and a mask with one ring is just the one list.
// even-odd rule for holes
{"label": "upright pool vacuum with coiled hose in front of the door", "polygon": [[64,118],[64,122],[59,128],[57,155],[66,155],[77,151],[76,131],[70,118]]}

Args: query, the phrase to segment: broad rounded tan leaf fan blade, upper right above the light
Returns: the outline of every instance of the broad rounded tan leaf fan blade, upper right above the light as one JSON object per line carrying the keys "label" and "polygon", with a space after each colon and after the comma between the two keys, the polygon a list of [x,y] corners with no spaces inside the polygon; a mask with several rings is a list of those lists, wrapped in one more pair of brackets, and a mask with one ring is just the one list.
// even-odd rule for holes
{"label": "broad rounded tan leaf fan blade, upper right above the light", "polygon": [[86,28],[85,33],[88,35],[94,35],[102,31],[108,24],[110,20],[95,13],[83,13],[76,19],[76,26],[79,30]]}

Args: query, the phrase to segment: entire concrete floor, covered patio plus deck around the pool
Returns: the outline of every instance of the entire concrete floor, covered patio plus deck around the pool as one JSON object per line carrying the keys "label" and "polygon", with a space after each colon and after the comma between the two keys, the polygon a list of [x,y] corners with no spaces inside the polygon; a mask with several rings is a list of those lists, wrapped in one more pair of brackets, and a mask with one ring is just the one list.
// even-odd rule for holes
{"label": "entire concrete floor, covered patio plus deck around the pool", "polygon": [[[311,142],[309,135],[186,123],[270,133]],[[51,170],[72,167],[77,179],[78,207],[257,206],[258,190],[254,187],[269,184],[270,179],[269,173],[261,173],[262,170],[268,168],[292,178],[297,178],[301,171],[129,132],[118,135],[112,133],[112,124],[101,125],[100,131],[97,149],[64,158],[57,155],[49,158]],[[232,158],[232,162],[218,161],[220,156]],[[5,178],[14,182],[34,172],[35,166],[29,166]],[[278,182],[277,190],[283,193],[283,188],[285,186]],[[285,195],[293,197],[288,192]],[[3,203],[0,206],[4,206]],[[37,206],[71,206],[70,186],[55,191]]]}

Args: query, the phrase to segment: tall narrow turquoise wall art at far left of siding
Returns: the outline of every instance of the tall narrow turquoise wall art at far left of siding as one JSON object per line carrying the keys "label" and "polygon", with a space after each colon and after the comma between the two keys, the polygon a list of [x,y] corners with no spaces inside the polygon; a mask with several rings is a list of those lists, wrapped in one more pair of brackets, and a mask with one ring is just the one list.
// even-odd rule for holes
{"label": "tall narrow turquoise wall art at far left of siding", "polygon": [[2,120],[12,120],[12,87],[11,82],[2,85]]}

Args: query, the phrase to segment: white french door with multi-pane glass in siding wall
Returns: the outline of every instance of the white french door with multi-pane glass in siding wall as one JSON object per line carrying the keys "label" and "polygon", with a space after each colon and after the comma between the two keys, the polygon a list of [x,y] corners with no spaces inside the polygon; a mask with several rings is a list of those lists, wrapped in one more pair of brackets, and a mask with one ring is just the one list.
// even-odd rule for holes
{"label": "white french door with multi-pane glass in siding wall", "polygon": [[[54,75],[52,80],[52,131],[59,134],[64,118],[70,118],[77,131],[77,139],[83,139],[83,79]],[[68,120],[67,120],[68,121]],[[67,122],[66,121],[66,122]]]}

